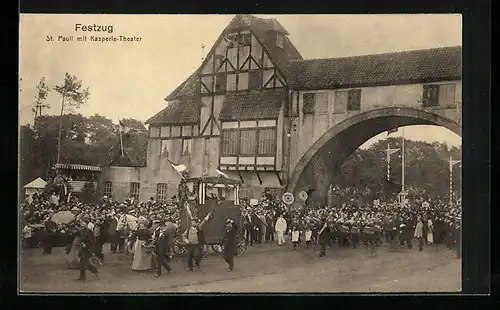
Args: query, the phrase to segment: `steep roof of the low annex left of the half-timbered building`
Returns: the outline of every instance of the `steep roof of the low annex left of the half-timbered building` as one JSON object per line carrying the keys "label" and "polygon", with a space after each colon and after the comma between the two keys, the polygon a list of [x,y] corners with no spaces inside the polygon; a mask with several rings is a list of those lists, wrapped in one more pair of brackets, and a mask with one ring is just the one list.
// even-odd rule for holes
{"label": "steep roof of the low annex left of the half-timbered building", "polygon": [[137,134],[125,134],[122,136],[122,141],[125,156],[121,156],[121,142],[118,138],[109,149],[108,156],[102,160],[101,166],[146,167],[147,137]]}

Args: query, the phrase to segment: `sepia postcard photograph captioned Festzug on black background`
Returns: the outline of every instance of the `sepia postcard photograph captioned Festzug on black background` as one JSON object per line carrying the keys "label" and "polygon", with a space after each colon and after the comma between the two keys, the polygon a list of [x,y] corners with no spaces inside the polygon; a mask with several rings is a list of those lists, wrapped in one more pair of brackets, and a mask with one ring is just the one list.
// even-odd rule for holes
{"label": "sepia postcard photograph captioned Festzug on black background", "polygon": [[18,290],[462,291],[462,16],[21,14]]}

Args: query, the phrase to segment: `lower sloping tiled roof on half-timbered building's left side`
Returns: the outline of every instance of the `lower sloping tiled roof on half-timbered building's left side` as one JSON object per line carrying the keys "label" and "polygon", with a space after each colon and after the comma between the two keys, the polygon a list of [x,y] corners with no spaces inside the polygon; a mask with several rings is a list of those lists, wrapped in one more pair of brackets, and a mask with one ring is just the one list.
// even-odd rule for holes
{"label": "lower sloping tiled roof on half-timbered building's left side", "polygon": [[171,101],[167,107],[146,121],[150,125],[195,124],[200,119],[199,96],[181,97]]}

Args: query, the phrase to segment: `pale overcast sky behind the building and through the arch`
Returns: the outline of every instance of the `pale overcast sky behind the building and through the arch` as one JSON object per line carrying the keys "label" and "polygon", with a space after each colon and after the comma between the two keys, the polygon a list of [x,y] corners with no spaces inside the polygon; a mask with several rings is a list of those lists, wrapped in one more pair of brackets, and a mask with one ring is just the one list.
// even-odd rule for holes
{"label": "pale overcast sky behind the building and through the arch", "polygon": [[[329,58],[462,44],[460,15],[257,15],[275,17],[290,33],[302,57]],[[21,124],[33,121],[31,104],[41,77],[51,86],[74,74],[90,88],[84,115],[147,120],[165,107],[164,98],[200,65],[234,15],[30,15],[20,21]],[[75,33],[75,24],[112,25],[115,36],[141,42],[57,42]],[[100,33],[98,35],[109,35]],[[53,36],[54,42],[46,37]],[[205,49],[202,50],[202,45]],[[52,93],[44,114],[58,114]],[[413,126],[410,139],[461,139],[435,126]],[[380,135],[384,136],[384,135]],[[385,136],[384,136],[385,137]],[[369,141],[367,144],[372,143]]]}

